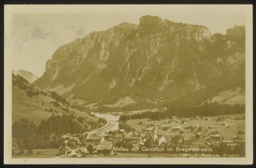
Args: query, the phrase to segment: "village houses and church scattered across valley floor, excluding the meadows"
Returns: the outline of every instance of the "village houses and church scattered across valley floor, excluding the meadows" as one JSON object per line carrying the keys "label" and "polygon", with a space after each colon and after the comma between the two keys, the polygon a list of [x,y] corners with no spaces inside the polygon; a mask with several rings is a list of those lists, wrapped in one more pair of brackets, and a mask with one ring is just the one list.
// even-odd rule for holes
{"label": "village houses and church scattered across valley floor, excluding the meadows", "polygon": [[[178,119],[173,117],[173,122],[188,123],[193,120],[202,120],[200,117],[194,118],[182,118]],[[204,118],[204,120],[210,120],[210,118]],[[223,119],[223,123],[221,125],[227,126],[229,119]],[[144,146],[144,143],[147,139],[151,138],[153,143],[156,146],[163,146],[166,144],[172,144],[174,142],[171,141],[171,136],[166,136],[165,134],[160,134],[160,132],[164,132],[164,124],[160,125],[156,122],[153,127],[146,128],[134,128],[133,131],[126,132],[124,129],[119,129],[117,131],[110,131],[104,134],[78,134],[72,135],[67,134],[63,135],[63,144],[60,146],[60,157],[82,157],[82,156],[90,156],[91,154],[102,154],[102,155],[116,155],[117,153],[113,150],[118,142],[129,143],[133,148],[140,148]],[[180,139],[175,143],[176,145],[200,145],[200,146],[218,146],[221,143],[235,146],[245,144],[245,137],[242,135],[235,135],[233,139],[224,140],[221,134],[216,131],[211,131],[215,128],[212,125],[207,126],[207,128],[202,128],[199,124],[195,126],[191,126],[191,128],[185,129],[180,126],[170,126],[165,131],[173,134],[176,134],[178,131],[178,135]],[[167,133],[166,133],[167,134]],[[174,136],[174,135],[173,135]],[[88,151],[88,146],[91,146],[92,149]]]}

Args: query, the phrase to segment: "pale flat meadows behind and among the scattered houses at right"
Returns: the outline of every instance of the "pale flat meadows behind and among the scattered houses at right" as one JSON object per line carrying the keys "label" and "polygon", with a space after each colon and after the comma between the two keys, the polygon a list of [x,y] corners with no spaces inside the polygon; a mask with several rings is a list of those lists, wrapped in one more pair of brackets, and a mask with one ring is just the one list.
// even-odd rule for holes
{"label": "pale flat meadows behind and among the scattered houses at right", "polygon": [[[157,126],[159,127],[173,127],[173,126],[181,126],[181,127],[188,127],[188,126],[201,126],[203,129],[206,128],[209,133],[212,131],[218,131],[220,132],[221,136],[223,136],[224,140],[230,140],[234,135],[237,134],[239,130],[242,130],[245,132],[245,120],[234,120],[236,117],[244,117],[245,114],[237,114],[237,115],[224,115],[225,117],[230,117],[228,122],[228,126],[222,126],[221,123],[223,121],[216,121],[216,119],[220,116],[215,116],[215,117],[207,117],[210,118],[210,121],[205,121],[204,118],[201,120],[197,121],[191,121],[188,122],[187,124],[181,124],[181,123],[175,123],[175,121],[171,121],[170,124],[168,124],[169,120],[161,120],[157,121]],[[140,125],[139,123],[142,122]],[[155,121],[152,121],[151,119],[136,119],[136,120],[128,120],[127,124],[132,126],[133,128],[139,128],[143,129],[147,127],[148,124],[154,124]],[[208,126],[213,126],[212,129],[208,129]],[[190,130],[184,129],[183,136],[184,137],[190,137],[194,136],[194,132],[189,132]],[[176,132],[170,132],[170,131],[163,131],[162,129],[158,129],[158,134],[165,134],[167,139],[172,138],[176,134],[179,134],[179,131]]]}

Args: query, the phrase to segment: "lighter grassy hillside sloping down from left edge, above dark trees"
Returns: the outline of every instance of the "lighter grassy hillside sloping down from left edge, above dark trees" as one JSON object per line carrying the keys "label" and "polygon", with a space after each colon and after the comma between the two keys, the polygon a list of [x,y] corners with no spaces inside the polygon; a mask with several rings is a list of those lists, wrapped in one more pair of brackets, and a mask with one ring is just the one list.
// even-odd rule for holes
{"label": "lighter grassy hillside sloping down from left edge, above dark trees", "polygon": [[54,99],[56,96],[54,97],[53,93],[38,89],[23,77],[13,74],[12,82],[12,123],[20,119],[28,119],[38,125],[43,119],[65,114],[84,127],[85,131],[104,125],[98,123],[98,118],[61,103],[60,98],[57,101]]}

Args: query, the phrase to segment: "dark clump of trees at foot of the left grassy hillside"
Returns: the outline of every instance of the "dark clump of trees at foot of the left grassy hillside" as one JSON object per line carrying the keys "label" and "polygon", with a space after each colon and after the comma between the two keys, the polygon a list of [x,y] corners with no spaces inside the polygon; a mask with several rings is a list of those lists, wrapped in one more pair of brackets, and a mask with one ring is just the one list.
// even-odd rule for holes
{"label": "dark clump of trees at foot of the left grassy hillside", "polygon": [[38,126],[27,119],[16,121],[12,125],[12,137],[20,148],[42,149],[49,148],[54,137],[66,133],[82,133],[84,128],[67,115],[52,116],[47,120],[42,120]]}

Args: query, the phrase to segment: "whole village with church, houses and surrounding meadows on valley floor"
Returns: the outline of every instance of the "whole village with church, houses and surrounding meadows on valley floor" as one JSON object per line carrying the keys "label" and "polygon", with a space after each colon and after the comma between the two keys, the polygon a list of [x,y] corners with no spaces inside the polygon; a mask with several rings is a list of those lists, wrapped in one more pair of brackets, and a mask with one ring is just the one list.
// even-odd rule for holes
{"label": "whole village with church, houses and surrounding meadows on valley floor", "polygon": [[[191,117],[159,121],[128,120],[132,131],[66,134],[56,157],[117,157],[120,153],[158,152],[170,146],[209,148],[245,145],[245,115]],[[184,153],[184,152],[183,152]]]}

